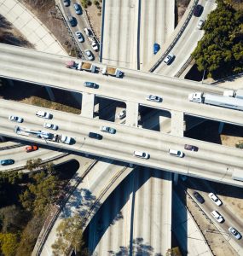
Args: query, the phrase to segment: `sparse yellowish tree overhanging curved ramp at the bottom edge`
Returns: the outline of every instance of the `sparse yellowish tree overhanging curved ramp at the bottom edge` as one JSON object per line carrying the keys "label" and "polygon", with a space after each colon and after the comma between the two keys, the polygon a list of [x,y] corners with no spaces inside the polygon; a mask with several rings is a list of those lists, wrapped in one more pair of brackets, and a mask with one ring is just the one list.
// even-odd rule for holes
{"label": "sparse yellowish tree overhanging curved ramp at the bottom edge", "polygon": [[57,236],[57,240],[52,245],[54,255],[66,255],[70,247],[74,248],[77,255],[83,253],[82,220],[78,214],[61,221],[57,227]]}

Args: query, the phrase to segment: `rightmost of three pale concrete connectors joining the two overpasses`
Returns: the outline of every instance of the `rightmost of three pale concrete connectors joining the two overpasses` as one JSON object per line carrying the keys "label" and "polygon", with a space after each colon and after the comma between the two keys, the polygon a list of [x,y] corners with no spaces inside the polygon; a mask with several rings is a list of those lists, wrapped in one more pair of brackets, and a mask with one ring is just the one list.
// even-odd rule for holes
{"label": "rightmost of three pale concrete connectors joining the two overpasses", "polygon": [[171,134],[183,137],[185,130],[184,113],[181,111],[171,111]]}

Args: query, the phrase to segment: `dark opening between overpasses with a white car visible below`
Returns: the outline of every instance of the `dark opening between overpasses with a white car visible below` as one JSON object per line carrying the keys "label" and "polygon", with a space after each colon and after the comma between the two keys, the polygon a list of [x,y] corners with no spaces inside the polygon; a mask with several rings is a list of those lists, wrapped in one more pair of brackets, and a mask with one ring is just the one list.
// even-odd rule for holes
{"label": "dark opening between overpasses with a white car visible below", "polygon": [[125,123],[126,104],[116,100],[95,96],[95,118],[116,123]]}

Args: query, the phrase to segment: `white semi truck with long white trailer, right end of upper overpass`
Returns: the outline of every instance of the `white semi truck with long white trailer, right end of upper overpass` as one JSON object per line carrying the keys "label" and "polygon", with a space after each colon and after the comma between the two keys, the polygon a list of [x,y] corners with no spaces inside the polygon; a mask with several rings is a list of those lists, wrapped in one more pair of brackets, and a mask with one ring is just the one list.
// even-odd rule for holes
{"label": "white semi truck with long white trailer, right end of upper overpass", "polygon": [[[240,95],[239,95],[240,96]],[[204,92],[194,92],[188,95],[190,102],[204,103],[213,106],[243,110],[243,99],[235,96],[214,95]]]}

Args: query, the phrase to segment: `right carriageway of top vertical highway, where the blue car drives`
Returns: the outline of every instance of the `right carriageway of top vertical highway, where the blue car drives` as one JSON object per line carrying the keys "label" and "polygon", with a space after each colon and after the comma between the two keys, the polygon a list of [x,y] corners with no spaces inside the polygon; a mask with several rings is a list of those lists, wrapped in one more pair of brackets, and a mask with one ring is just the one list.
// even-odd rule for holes
{"label": "right carriageway of top vertical highway, where the blue car drives", "polygon": [[[153,60],[153,44],[161,47],[175,27],[175,1],[142,0],[140,32],[140,64]],[[160,49],[161,52],[161,49]]]}

